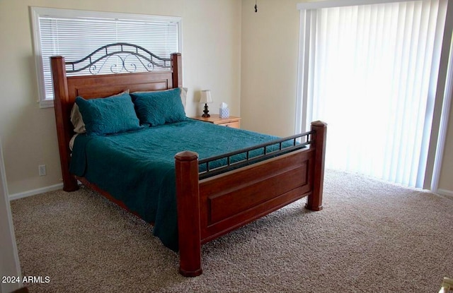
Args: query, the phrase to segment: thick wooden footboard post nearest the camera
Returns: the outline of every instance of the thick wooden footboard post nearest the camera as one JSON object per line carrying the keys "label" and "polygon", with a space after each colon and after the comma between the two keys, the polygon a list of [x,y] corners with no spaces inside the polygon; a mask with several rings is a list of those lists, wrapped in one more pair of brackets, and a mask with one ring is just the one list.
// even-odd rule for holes
{"label": "thick wooden footboard post nearest the camera", "polygon": [[179,272],[196,277],[202,273],[198,154],[185,151],[177,153],[175,159]]}

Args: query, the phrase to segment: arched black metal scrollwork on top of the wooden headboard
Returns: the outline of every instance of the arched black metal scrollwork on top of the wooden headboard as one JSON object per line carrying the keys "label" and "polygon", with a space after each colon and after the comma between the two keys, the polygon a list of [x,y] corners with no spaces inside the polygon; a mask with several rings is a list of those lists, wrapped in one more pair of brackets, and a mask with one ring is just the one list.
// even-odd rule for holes
{"label": "arched black metal scrollwork on top of the wooden headboard", "polygon": [[96,75],[166,70],[171,68],[171,59],[156,56],[136,44],[115,43],[105,45],[79,61],[67,61],[65,64],[67,73],[88,70]]}

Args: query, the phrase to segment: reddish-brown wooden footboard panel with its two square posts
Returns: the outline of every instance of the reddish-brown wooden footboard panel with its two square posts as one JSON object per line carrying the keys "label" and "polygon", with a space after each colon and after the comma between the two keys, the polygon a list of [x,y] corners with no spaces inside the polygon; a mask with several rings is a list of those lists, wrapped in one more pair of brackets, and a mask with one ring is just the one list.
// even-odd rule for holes
{"label": "reddish-brown wooden footboard panel with its two square posts", "polygon": [[308,196],[322,209],[326,124],[311,124],[309,148],[199,179],[198,155],[176,155],[180,273],[202,273],[201,245]]}

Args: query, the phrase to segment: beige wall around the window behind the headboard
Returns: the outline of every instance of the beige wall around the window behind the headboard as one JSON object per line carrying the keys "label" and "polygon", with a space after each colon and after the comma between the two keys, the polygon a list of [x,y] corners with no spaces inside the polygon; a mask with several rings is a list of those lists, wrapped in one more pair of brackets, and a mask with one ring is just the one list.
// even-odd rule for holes
{"label": "beige wall around the window behind the headboard", "polygon": [[181,16],[188,116],[201,113],[201,89],[212,90],[212,113],[224,101],[240,114],[240,0],[0,0],[0,136],[10,195],[61,182],[53,108],[36,102],[29,6]]}

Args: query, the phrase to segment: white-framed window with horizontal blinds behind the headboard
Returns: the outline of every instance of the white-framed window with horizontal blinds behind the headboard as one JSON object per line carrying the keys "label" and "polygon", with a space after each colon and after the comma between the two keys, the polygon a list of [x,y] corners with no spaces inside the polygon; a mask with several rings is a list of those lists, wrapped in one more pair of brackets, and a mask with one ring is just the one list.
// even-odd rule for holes
{"label": "white-framed window with horizontal blinds behind the headboard", "polygon": [[40,107],[53,106],[50,56],[77,61],[99,47],[117,42],[137,44],[167,58],[173,52],[181,52],[178,17],[38,7],[31,8],[31,16]]}

